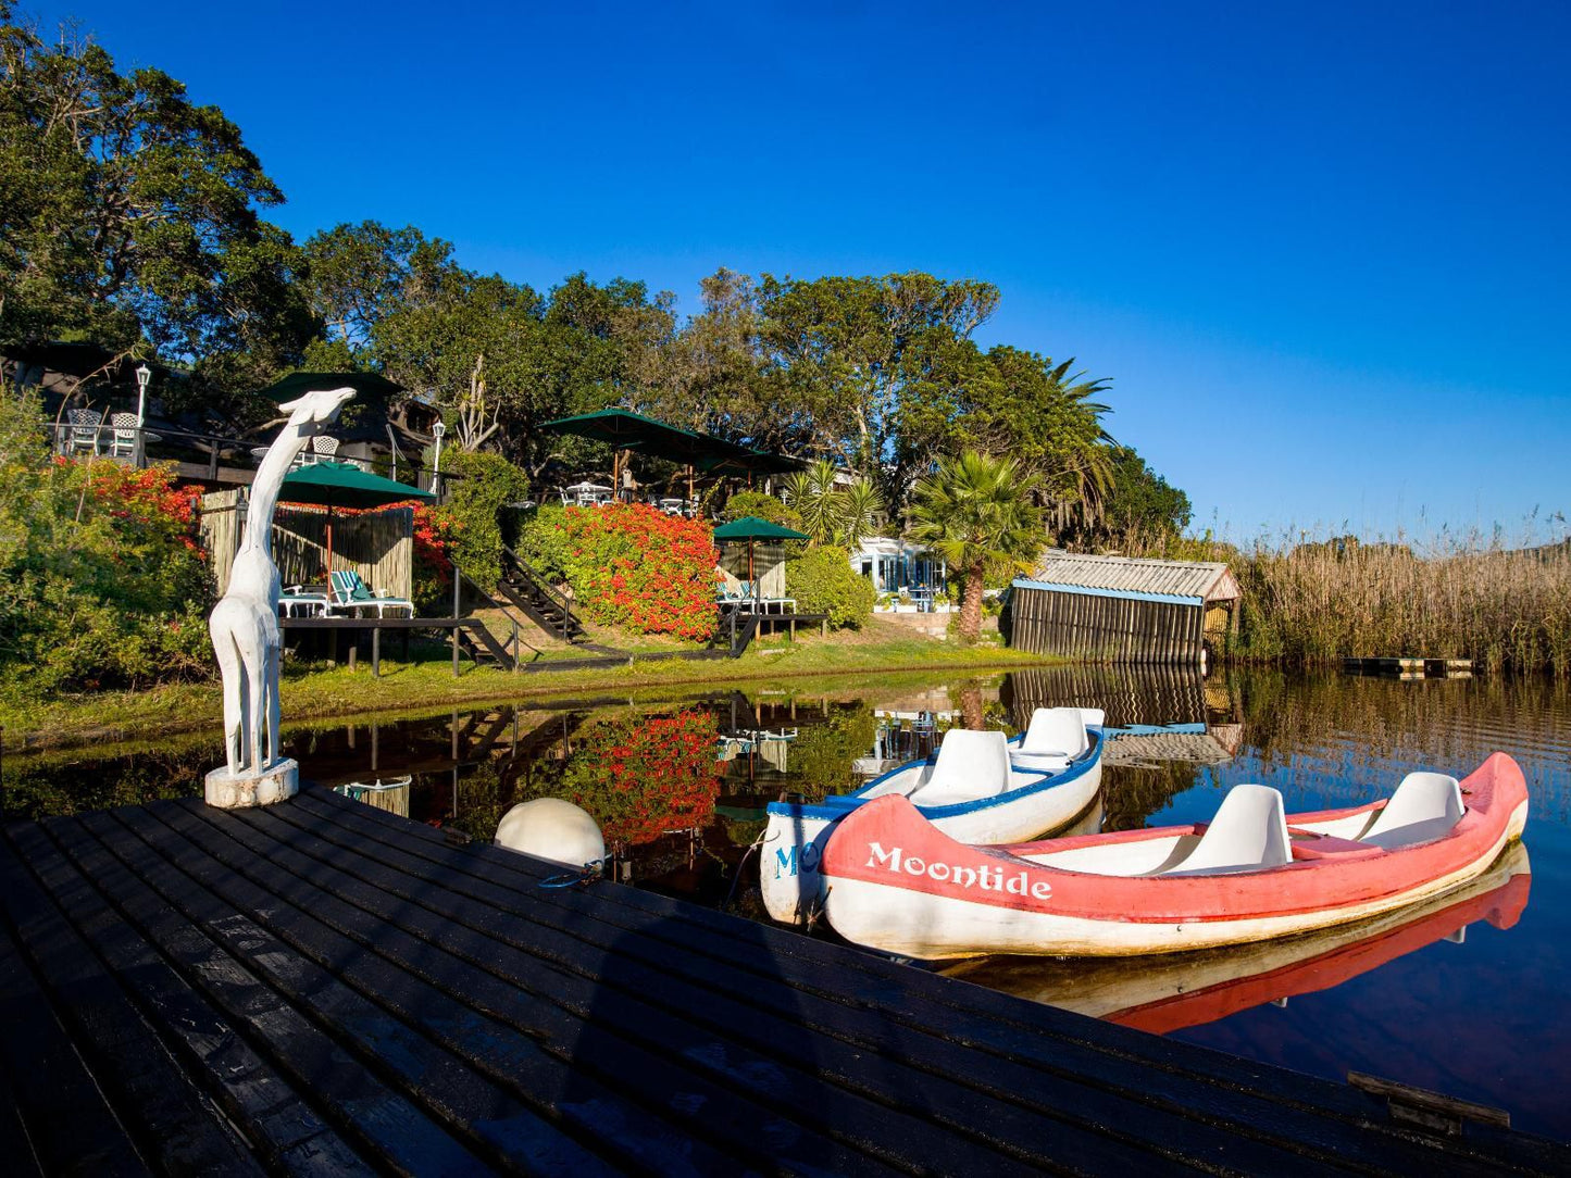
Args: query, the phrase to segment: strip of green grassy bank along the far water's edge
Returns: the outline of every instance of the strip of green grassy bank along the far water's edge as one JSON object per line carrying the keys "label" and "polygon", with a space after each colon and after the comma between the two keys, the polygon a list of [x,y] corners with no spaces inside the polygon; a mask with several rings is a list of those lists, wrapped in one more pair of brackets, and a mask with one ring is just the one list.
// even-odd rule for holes
{"label": "strip of green grassy bank along the far water's edge", "polygon": [[[856,635],[798,636],[765,642],[737,660],[641,660],[599,669],[512,674],[465,661],[452,677],[446,655],[424,661],[383,660],[382,677],[361,666],[287,669],[283,712],[287,721],[331,719],[366,713],[412,713],[454,704],[518,699],[562,699],[577,694],[726,686],[796,677],[1009,669],[1037,663],[1040,655],[979,644],[963,647],[913,638],[873,620]],[[16,693],[13,693],[16,694]],[[222,727],[218,683],[178,683],[149,691],[97,693],[58,701],[11,699],[0,704],[6,749],[66,748],[107,740],[151,740],[178,732]]]}

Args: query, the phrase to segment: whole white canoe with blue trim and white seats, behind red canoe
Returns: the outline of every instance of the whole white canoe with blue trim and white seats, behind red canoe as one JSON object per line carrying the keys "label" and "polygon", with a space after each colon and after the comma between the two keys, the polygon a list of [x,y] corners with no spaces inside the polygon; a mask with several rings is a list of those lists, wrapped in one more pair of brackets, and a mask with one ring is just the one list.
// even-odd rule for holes
{"label": "whole white canoe with blue trim and white seats, behind red canoe", "polygon": [[[1057,713],[1043,716],[1042,713]],[[776,801],[759,861],[770,916],[804,922],[823,902],[818,864],[834,826],[877,798],[910,799],[924,818],[966,843],[1018,842],[1062,829],[1101,787],[1101,713],[1038,708],[1013,741],[1002,732],[950,729],[933,757],[914,760],[822,803]],[[1073,719],[1073,724],[1070,723]],[[1064,746],[1068,752],[1060,752]]]}

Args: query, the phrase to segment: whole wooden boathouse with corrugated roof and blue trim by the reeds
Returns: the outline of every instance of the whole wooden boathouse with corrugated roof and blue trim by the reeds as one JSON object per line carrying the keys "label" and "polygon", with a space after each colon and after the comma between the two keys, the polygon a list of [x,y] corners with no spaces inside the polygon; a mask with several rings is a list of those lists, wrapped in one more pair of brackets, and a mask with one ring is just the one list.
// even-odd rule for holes
{"label": "whole wooden boathouse with corrugated roof and blue trim by the reeds", "polygon": [[1016,576],[999,628],[1023,650],[1103,663],[1200,663],[1238,625],[1225,564],[1049,550]]}

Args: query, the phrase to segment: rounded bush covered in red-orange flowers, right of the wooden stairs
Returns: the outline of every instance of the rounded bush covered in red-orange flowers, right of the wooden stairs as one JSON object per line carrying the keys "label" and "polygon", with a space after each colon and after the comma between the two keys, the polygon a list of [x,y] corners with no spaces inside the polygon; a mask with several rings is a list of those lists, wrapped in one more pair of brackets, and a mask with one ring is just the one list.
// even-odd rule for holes
{"label": "rounded bush covered in red-orange flowers, right of the wooden stairs", "polygon": [[525,558],[567,581],[591,622],[707,641],[715,633],[715,532],[647,504],[542,507]]}

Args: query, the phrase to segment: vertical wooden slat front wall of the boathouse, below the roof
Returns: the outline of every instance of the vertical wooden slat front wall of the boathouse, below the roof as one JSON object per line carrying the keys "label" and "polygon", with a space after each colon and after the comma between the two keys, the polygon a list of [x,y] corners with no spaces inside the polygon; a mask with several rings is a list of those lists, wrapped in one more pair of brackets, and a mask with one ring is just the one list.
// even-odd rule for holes
{"label": "vertical wooden slat front wall of the boathouse, below the roof", "polygon": [[1015,586],[1007,638],[1021,650],[1084,661],[1199,663],[1205,609],[1199,602]]}

